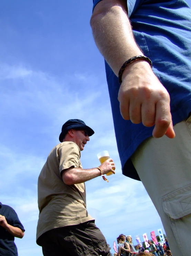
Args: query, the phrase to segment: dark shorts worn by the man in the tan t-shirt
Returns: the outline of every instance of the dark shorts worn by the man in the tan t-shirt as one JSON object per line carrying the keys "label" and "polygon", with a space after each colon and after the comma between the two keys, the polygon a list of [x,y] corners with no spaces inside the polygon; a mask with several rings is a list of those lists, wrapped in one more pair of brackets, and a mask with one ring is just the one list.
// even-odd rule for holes
{"label": "dark shorts worn by the man in the tan t-shirt", "polygon": [[47,231],[38,239],[44,256],[111,256],[94,221]]}

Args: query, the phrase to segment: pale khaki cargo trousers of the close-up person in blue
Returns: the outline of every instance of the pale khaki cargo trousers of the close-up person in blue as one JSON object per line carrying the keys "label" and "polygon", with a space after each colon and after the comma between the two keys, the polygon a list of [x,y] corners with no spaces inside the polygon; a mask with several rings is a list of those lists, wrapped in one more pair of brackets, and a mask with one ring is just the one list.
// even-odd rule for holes
{"label": "pale khaki cargo trousers of the close-up person in blue", "polygon": [[175,138],[145,140],[131,157],[157,209],[173,256],[190,255],[191,116],[174,125]]}

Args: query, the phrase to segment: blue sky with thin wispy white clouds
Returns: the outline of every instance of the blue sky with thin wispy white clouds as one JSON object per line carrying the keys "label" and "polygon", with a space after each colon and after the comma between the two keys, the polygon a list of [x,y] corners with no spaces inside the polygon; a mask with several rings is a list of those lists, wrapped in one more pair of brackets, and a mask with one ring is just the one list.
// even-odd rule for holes
{"label": "blue sky with thin wispy white clouds", "polygon": [[[188,1],[190,4],[190,1]],[[0,201],[12,206],[26,233],[19,256],[42,256],[36,245],[37,180],[61,126],[79,118],[95,131],[81,154],[83,168],[108,150],[116,165],[109,183],[86,183],[87,209],[108,243],[162,228],[141,182],[121,174],[104,61],[89,20],[92,1],[1,1]],[[112,252],[113,249],[111,250]]]}

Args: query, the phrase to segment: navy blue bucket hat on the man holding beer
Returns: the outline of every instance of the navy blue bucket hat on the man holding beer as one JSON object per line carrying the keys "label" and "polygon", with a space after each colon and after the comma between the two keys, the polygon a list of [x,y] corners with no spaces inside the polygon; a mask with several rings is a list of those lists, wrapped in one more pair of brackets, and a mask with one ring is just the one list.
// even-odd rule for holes
{"label": "navy blue bucket hat on the man holding beer", "polygon": [[86,130],[88,132],[88,136],[91,136],[94,134],[94,131],[87,126],[82,120],[80,119],[70,119],[66,123],[62,125],[62,131],[59,136],[59,141],[63,142],[63,138],[70,129],[76,129],[76,130]]}

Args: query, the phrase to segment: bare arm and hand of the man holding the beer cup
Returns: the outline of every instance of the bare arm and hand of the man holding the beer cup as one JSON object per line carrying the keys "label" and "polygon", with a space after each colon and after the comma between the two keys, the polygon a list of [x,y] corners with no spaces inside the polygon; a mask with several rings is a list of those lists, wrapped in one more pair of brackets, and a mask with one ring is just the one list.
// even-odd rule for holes
{"label": "bare arm and hand of the man holding the beer cup", "polygon": [[[103,175],[109,173],[110,171],[115,174],[115,166],[111,158],[103,162],[99,168],[102,170]],[[81,169],[71,167],[64,170],[62,173],[63,182],[67,185],[83,183],[98,176],[100,176],[100,170],[98,168]]]}

